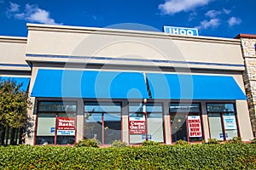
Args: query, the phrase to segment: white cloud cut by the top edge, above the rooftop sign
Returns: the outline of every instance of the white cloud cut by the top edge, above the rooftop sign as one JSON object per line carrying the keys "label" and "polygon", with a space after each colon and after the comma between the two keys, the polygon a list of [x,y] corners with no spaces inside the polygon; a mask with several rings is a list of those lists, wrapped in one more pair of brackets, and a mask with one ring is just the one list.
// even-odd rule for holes
{"label": "white cloud cut by the top edge, above the rooftop sign", "polygon": [[212,0],[166,0],[166,2],[160,4],[158,8],[163,14],[176,14],[207,5],[211,1]]}

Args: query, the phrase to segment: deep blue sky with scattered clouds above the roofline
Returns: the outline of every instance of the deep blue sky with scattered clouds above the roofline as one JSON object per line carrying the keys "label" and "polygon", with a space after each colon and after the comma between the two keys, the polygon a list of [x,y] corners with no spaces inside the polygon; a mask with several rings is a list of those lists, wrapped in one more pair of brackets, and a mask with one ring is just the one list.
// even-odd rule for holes
{"label": "deep blue sky with scattered clouds above the roofline", "polygon": [[[255,0],[0,0],[0,36],[26,37],[26,23],[162,31],[195,27],[200,36],[256,34]],[[150,27],[148,27],[150,26]]]}

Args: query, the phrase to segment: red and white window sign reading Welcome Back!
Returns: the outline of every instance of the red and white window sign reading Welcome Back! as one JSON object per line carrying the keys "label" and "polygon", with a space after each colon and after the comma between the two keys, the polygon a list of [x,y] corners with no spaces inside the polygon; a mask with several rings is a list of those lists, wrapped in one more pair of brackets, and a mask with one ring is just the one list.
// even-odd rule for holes
{"label": "red and white window sign reading Welcome Back!", "polygon": [[75,133],[74,117],[58,117],[57,118],[57,135],[74,135]]}

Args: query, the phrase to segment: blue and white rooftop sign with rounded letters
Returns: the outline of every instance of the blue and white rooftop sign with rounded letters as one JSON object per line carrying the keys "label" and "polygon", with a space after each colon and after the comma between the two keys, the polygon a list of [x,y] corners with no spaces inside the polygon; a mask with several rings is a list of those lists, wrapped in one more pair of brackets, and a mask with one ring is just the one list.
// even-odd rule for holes
{"label": "blue and white rooftop sign with rounded letters", "polygon": [[165,33],[183,35],[183,36],[198,36],[198,31],[196,28],[184,28],[184,27],[174,27],[174,26],[164,26]]}

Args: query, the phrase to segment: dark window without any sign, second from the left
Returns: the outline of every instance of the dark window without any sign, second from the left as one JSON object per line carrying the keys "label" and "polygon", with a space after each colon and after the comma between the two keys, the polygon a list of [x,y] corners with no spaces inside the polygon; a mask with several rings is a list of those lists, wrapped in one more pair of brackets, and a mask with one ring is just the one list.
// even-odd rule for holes
{"label": "dark window without any sign, second from the left", "polygon": [[85,102],[84,138],[101,144],[121,139],[121,104]]}

